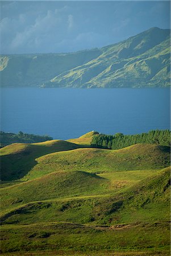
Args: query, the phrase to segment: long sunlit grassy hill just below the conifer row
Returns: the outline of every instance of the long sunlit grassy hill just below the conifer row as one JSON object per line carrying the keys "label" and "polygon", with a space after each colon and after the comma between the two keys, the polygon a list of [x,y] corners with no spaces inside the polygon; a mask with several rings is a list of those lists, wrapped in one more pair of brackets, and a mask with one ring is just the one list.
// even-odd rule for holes
{"label": "long sunlit grassy hill just below the conifer row", "polygon": [[36,159],[37,165],[23,178],[34,179],[55,171],[106,173],[126,170],[160,169],[170,164],[170,147],[135,144],[120,150],[78,148]]}

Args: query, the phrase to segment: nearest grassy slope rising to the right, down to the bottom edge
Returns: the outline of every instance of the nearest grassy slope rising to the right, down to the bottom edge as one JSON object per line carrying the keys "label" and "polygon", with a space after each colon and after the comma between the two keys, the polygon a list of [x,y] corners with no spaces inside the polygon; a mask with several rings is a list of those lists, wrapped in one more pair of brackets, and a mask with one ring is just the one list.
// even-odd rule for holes
{"label": "nearest grassy slope rising to the right, down to the bottom edge", "polygon": [[165,168],[109,197],[22,205],[2,217],[2,251],[169,255],[169,176]]}

